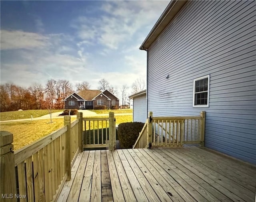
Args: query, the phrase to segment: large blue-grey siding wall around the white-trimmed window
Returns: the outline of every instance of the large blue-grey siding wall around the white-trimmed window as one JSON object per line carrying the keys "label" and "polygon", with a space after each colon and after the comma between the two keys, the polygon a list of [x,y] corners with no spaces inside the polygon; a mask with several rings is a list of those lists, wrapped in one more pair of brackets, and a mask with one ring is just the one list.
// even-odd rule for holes
{"label": "large blue-grey siding wall around the white-trimmed window", "polygon": [[[188,1],[148,48],[147,69],[153,116],[206,111],[205,146],[253,164],[255,14],[255,1]],[[193,107],[193,81],[206,75],[209,107]]]}

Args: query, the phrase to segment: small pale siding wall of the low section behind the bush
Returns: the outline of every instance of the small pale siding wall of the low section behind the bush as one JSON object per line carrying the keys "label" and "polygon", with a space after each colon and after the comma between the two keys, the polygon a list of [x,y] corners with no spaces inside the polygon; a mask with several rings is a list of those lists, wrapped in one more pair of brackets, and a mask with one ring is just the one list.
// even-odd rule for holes
{"label": "small pale siding wall of the low section behind the bush", "polygon": [[146,122],[146,94],[133,99],[133,121]]}

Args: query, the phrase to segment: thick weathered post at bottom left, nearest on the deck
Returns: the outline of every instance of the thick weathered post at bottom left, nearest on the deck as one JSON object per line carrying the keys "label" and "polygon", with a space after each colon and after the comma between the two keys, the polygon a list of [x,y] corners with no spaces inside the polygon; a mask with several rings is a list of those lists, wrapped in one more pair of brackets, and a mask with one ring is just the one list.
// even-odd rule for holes
{"label": "thick weathered post at bottom left, nearest on the deck", "polygon": [[13,152],[13,135],[8,131],[0,132],[1,146],[1,201],[17,201],[16,174]]}

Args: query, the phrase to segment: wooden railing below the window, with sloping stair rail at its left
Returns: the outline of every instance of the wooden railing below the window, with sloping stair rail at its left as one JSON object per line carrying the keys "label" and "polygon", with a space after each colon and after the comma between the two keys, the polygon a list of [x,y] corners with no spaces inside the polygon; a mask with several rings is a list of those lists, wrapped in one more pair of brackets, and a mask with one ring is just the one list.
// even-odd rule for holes
{"label": "wooden railing below the window, with sloping stair rail at its left", "polygon": [[[147,127],[147,129],[145,129]],[[150,112],[133,148],[204,146],[205,112],[191,117],[153,117]]]}

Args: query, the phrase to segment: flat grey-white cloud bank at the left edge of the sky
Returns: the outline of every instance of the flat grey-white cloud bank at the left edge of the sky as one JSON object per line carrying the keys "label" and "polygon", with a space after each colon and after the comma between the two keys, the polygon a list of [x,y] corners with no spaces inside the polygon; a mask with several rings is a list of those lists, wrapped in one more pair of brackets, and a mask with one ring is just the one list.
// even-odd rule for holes
{"label": "flat grey-white cloud bank at the left edge of the sky", "polygon": [[48,46],[48,40],[48,37],[32,32],[1,30],[1,50],[44,48]]}

